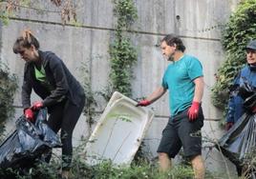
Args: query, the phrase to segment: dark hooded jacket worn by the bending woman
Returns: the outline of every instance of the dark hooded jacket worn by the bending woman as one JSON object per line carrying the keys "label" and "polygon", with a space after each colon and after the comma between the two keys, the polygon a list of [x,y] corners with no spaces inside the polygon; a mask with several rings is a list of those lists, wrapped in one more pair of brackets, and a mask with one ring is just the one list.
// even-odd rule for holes
{"label": "dark hooded jacket worn by the bending woman", "polygon": [[42,68],[45,70],[47,81],[53,90],[45,88],[36,78],[34,63],[27,62],[24,68],[24,80],[22,86],[22,105],[24,109],[31,107],[31,93],[34,92],[43,99],[45,107],[51,107],[63,100],[69,99],[75,106],[78,106],[83,99],[84,90],[76,81],[70,70],[63,61],[52,51],[38,51],[42,60]]}

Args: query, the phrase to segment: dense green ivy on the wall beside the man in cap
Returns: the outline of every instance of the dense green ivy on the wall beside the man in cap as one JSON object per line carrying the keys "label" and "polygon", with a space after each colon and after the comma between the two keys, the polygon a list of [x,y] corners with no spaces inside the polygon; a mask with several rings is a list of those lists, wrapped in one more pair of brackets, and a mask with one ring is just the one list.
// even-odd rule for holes
{"label": "dense green ivy on the wall beside the man in cap", "polygon": [[230,16],[224,30],[222,44],[226,53],[224,64],[217,73],[217,82],[212,89],[213,105],[225,109],[228,91],[233,79],[245,65],[245,46],[256,39],[256,0],[242,1]]}

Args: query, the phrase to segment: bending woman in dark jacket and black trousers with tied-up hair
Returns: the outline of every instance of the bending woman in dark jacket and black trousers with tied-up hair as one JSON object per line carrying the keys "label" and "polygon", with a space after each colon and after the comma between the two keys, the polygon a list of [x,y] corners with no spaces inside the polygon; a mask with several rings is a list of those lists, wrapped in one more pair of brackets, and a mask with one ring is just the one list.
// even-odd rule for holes
{"label": "bending woman in dark jacket and black trousers with tied-up hair", "polygon": [[[16,39],[13,52],[26,61],[22,85],[24,114],[33,122],[34,110],[48,109],[48,125],[54,132],[61,129],[62,177],[69,178],[72,135],[85,105],[84,90],[59,57],[52,51],[39,50],[39,42],[30,30]],[[31,105],[32,89],[42,100]]]}

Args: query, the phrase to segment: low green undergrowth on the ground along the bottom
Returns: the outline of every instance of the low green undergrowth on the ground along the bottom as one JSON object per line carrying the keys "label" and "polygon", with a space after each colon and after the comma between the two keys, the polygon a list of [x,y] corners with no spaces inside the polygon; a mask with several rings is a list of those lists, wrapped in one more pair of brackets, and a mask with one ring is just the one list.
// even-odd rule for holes
{"label": "low green undergrowth on the ground along the bottom", "polygon": [[[81,146],[82,147],[82,146]],[[89,166],[84,162],[84,154],[80,149],[75,149],[74,162],[71,169],[72,179],[192,179],[194,172],[191,167],[177,165],[166,173],[159,172],[155,163],[140,162],[132,164],[129,168],[114,167],[111,162],[105,161],[96,166]],[[50,165],[38,164],[34,169],[23,172],[12,170],[12,176],[18,179],[55,179],[59,177],[59,158],[54,158]],[[0,169],[0,178],[6,177]],[[5,173],[7,174],[7,173]],[[206,172],[205,178],[227,178],[225,174]]]}

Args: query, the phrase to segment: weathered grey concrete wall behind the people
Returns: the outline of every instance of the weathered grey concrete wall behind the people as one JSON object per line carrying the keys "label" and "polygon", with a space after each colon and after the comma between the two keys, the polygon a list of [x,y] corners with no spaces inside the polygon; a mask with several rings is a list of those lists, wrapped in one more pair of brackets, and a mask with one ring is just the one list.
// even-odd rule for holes
{"label": "weathered grey concrete wall behind the people", "polygon": [[[220,25],[226,23],[239,0],[135,0],[135,2],[139,20],[134,29],[139,32],[134,34],[132,39],[139,50],[139,59],[134,68],[136,77],[132,83],[133,97],[146,96],[160,86],[168,62],[162,58],[160,48],[156,45],[165,34],[175,32],[181,36],[186,52],[197,56],[203,63],[205,80],[203,136],[207,134],[212,140],[219,138],[222,131],[217,121],[221,118],[221,114],[210,102],[210,89],[215,83],[214,73],[224,60],[224,51],[220,42],[223,29]],[[95,91],[105,89],[110,70],[108,47],[115,23],[112,0],[76,0],[75,3],[77,3],[78,22],[83,25],[82,27],[63,27],[59,13],[53,12],[58,9],[48,1],[39,0],[33,1],[32,6],[52,12],[21,8],[8,26],[0,26],[1,60],[9,65],[11,72],[18,75],[19,87],[22,83],[24,62],[13,54],[11,49],[20,31],[29,28],[38,37],[41,50],[53,50],[80,82],[83,82],[83,76],[86,74],[79,69],[82,63],[86,63],[86,68],[91,71],[88,75],[92,79],[93,89]],[[35,99],[37,97],[32,95],[32,100]],[[16,116],[20,115],[20,88],[15,96],[14,106],[17,107]],[[101,111],[105,106],[106,104],[101,100],[97,110]],[[148,130],[145,144],[152,156],[156,156],[161,130],[169,116],[167,95],[151,108],[155,110],[156,117]],[[78,123],[74,136],[75,145],[81,135],[89,135],[84,116],[81,116]],[[9,131],[13,129],[13,121],[8,129]],[[218,160],[223,160],[214,149],[211,153],[213,158],[219,157]],[[207,159],[207,165],[214,166],[211,169],[224,169],[224,165],[218,160],[211,159],[208,162]]]}

